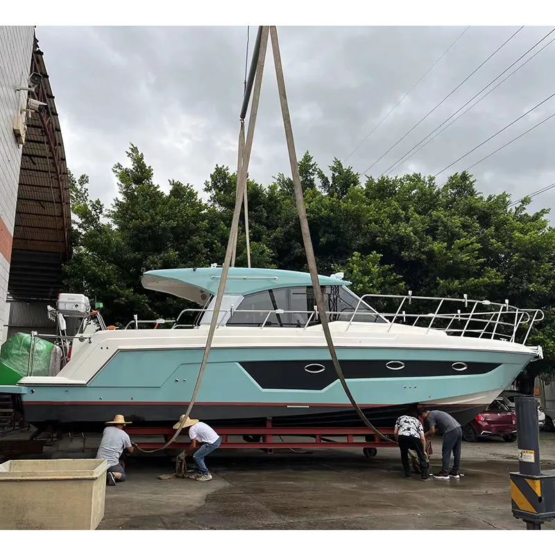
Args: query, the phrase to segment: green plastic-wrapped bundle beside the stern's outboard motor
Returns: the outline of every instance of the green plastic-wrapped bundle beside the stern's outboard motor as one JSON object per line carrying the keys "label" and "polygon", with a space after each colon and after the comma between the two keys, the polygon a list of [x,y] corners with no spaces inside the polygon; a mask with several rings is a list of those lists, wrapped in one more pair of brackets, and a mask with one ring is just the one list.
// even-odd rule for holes
{"label": "green plastic-wrapped bundle beside the stern's outboard motor", "polygon": [[[33,376],[48,376],[50,372],[53,343],[35,337]],[[31,336],[15,334],[0,348],[0,385],[12,386],[27,375]]]}

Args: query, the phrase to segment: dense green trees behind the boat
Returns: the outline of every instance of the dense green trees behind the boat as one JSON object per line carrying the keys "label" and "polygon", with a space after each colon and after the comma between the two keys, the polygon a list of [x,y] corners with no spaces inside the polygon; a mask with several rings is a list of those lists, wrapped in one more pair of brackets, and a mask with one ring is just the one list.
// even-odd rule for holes
{"label": "dense green trees behind the boat", "polygon": [[[75,254],[65,268],[67,288],[101,300],[106,320],[119,324],[187,307],[142,289],[142,273],[223,261],[237,177],[216,166],[203,200],[178,181],[162,190],[137,147],[127,158],[113,168],[119,196],[109,210],[89,197],[87,176],[70,175]],[[339,160],[325,173],[305,153],[299,173],[320,273],[345,271],[358,293],[467,293],[543,309],[530,342],[543,345],[546,359],[529,372],[554,373],[555,230],[547,210],[529,214],[529,199],[511,209],[509,195],[484,196],[466,172],[443,187],[420,174],[362,183]],[[306,271],[291,178],[280,173],[267,187],[248,180],[248,203],[253,266]],[[237,266],[246,266],[243,221],[241,214]]]}

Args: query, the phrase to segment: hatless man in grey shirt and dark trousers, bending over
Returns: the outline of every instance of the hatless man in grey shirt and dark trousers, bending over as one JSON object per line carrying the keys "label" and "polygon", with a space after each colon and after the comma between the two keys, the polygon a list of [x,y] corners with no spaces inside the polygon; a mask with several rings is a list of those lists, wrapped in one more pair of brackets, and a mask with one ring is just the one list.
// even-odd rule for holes
{"label": "hatless man in grey shirt and dark trousers, bending over", "polygon": [[[459,479],[459,466],[461,465],[461,443],[463,432],[461,425],[450,414],[443,411],[429,411],[423,409],[420,415],[427,420],[429,430],[425,437],[429,438],[436,433],[436,426],[443,432],[443,446],[441,450],[441,472],[435,474],[434,478],[448,480],[450,478]],[[453,454],[453,468],[449,470],[449,461]]]}

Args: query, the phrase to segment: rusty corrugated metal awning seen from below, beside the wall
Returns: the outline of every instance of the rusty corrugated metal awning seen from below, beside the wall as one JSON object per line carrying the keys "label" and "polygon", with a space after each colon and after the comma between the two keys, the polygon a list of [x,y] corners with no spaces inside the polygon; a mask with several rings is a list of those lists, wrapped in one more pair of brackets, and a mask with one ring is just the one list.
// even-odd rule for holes
{"label": "rusty corrugated metal awning seen from below, beside the wall", "polygon": [[14,298],[53,298],[71,258],[71,207],[58,111],[36,38],[30,73],[42,81],[29,94],[47,107],[27,120],[8,291]]}

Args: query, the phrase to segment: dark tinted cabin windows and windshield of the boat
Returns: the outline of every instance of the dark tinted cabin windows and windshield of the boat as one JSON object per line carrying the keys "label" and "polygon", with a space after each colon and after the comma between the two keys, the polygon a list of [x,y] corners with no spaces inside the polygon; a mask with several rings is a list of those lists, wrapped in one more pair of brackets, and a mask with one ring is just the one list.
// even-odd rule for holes
{"label": "dark tinted cabin windows and windshield of the boat", "polygon": [[[386,323],[372,307],[361,301],[350,289],[342,285],[322,287],[328,312],[332,322],[368,322]],[[259,326],[277,325],[280,327],[305,327],[318,325],[319,318],[314,318],[314,290],[312,287],[284,287],[268,289],[248,295],[241,300],[226,325]],[[357,309],[358,306],[358,309]],[[283,314],[275,314],[282,309]],[[353,318],[353,314],[356,315]],[[268,316],[269,314],[269,316]]]}

